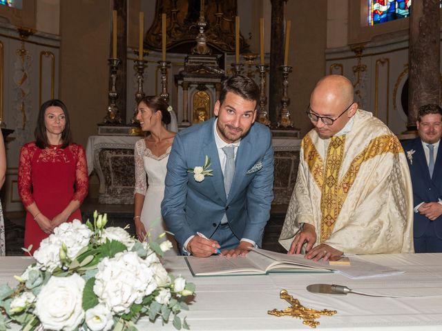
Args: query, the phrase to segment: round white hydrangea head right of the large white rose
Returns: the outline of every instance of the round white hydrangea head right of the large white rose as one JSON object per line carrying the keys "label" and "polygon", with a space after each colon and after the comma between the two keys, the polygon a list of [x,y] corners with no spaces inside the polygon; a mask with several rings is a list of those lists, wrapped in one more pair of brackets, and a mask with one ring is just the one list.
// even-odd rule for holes
{"label": "round white hydrangea head right of the large white rose", "polygon": [[99,301],[116,314],[128,313],[133,303],[141,303],[144,296],[157,288],[151,263],[136,252],[106,257],[97,267],[93,290]]}

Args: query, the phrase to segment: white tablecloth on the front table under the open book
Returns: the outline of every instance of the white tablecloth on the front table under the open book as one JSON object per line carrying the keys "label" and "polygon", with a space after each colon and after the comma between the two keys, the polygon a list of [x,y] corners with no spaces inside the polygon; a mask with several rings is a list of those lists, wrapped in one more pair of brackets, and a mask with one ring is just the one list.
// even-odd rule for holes
{"label": "white tablecloth on the front table under the open book", "polygon": [[[267,310],[287,308],[279,299],[285,288],[302,305],[337,310],[332,317],[320,317],[318,330],[441,330],[442,254],[379,254],[363,259],[405,270],[405,274],[364,280],[351,280],[340,274],[271,274],[193,278],[182,257],[165,259],[166,268],[182,274],[196,285],[195,301],[187,316],[191,330],[309,330],[292,317],[274,317]],[[12,279],[24,269],[26,260],[0,257],[0,281]],[[12,281],[11,281],[12,280]],[[357,294],[331,296],[307,292],[311,283],[336,283],[362,292],[389,294],[441,294],[439,297],[376,298]],[[174,330],[173,325],[150,325],[142,320],[139,330]],[[19,330],[12,325],[12,330]]]}

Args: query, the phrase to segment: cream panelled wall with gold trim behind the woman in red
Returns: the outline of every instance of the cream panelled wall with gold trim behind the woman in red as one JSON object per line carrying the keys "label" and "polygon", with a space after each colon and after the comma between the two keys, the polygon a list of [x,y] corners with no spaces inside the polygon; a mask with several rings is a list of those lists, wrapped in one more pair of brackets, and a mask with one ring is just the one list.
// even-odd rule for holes
{"label": "cream panelled wall with gold trim behind the woman in red", "polygon": [[1,201],[7,212],[23,210],[17,189],[19,151],[34,139],[41,101],[58,96],[59,44],[58,36],[43,32],[22,42],[16,26],[0,23],[0,117],[2,126],[14,130],[6,139]]}

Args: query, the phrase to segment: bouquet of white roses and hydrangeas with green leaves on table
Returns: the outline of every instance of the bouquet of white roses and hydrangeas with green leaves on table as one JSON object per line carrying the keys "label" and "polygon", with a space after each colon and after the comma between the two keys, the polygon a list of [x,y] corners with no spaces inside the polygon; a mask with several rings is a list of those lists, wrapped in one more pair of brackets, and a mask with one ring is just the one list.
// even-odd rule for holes
{"label": "bouquet of white roses and hydrangeas with green leaves on table", "polygon": [[106,214],[93,217],[59,225],[35,251],[37,262],[15,277],[19,285],[0,285],[0,331],[11,321],[25,331],[135,331],[142,316],[189,330],[177,314],[188,310],[195,285],[168,274],[158,258],[171,242],[157,242],[164,234],[140,242],[126,228],[105,228]]}

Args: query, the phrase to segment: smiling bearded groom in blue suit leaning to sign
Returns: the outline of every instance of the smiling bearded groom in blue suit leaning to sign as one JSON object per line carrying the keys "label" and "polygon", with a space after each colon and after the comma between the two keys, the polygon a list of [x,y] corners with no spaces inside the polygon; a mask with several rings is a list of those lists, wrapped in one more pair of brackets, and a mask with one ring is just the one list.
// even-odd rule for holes
{"label": "smiling bearded groom in blue suit leaning to sign", "polygon": [[162,216],[184,254],[227,257],[261,245],[273,199],[269,128],[255,123],[260,90],[224,81],[215,118],[179,132],[167,163]]}

